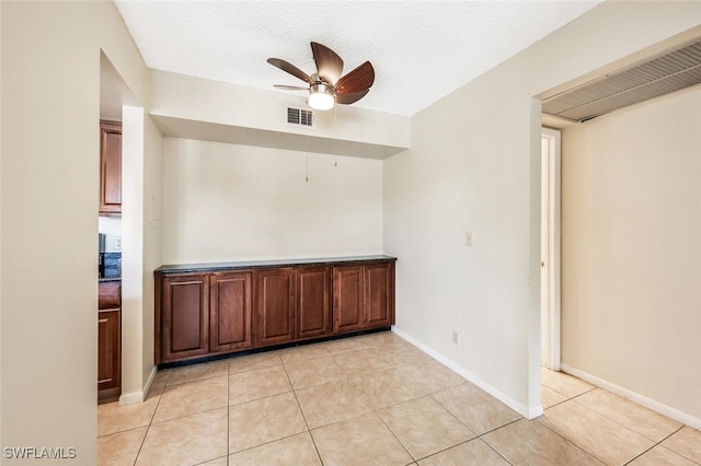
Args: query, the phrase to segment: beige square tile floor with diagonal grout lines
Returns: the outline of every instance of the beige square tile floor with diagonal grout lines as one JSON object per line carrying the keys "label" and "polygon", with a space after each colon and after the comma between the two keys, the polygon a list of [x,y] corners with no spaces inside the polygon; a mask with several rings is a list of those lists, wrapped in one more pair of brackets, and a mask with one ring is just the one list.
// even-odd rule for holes
{"label": "beige square tile floor with diagonal grout lines", "polygon": [[528,421],[384,331],[166,369],[99,406],[100,465],[701,465],[701,432],[542,371]]}

